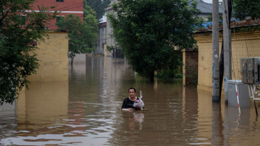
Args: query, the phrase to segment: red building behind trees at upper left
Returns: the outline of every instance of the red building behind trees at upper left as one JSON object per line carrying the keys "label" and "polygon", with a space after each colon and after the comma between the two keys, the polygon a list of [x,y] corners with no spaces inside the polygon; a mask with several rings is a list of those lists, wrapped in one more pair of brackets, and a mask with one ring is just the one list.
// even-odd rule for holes
{"label": "red building behind trees at upper left", "polygon": [[[52,10],[52,12],[54,12],[54,9],[61,12],[56,19],[49,22],[49,29],[57,29],[56,21],[59,21],[60,17],[65,17],[69,14],[79,16],[83,22],[83,0],[38,0],[33,3],[33,6],[36,12],[39,10],[38,6],[49,7],[49,10]],[[56,8],[51,9],[51,6],[56,6]]]}

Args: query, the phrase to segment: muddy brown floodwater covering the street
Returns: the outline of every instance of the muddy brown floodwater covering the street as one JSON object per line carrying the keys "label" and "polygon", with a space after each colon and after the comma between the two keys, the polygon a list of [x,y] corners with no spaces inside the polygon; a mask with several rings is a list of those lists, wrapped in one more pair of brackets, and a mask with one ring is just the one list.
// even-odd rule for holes
{"label": "muddy brown floodwater covering the street", "polygon": [[[144,111],[120,111],[128,88]],[[124,59],[75,60],[68,81],[35,82],[0,106],[0,145],[260,145],[254,106],[211,102],[211,92],[182,83],[149,83]]]}

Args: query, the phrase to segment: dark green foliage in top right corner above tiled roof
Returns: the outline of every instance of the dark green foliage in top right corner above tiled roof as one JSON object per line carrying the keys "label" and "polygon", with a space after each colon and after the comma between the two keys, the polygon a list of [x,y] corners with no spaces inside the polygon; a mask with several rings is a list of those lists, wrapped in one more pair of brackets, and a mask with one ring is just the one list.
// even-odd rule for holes
{"label": "dark green foliage in top right corner above tiled roof", "polygon": [[[234,17],[243,19],[245,17],[260,17],[259,0],[234,0]],[[232,16],[233,17],[233,16]]]}

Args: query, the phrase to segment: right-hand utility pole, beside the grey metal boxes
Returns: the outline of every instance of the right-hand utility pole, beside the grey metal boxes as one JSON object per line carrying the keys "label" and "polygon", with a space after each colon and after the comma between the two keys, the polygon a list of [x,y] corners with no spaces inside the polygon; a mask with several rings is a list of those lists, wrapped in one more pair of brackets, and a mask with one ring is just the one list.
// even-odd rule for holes
{"label": "right-hand utility pole, beside the grey metal boxes", "polygon": [[231,74],[231,30],[229,19],[229,0],[223,0],[223,38],[224,38],[224,101],[228,104],[227,81],[232,79]]}

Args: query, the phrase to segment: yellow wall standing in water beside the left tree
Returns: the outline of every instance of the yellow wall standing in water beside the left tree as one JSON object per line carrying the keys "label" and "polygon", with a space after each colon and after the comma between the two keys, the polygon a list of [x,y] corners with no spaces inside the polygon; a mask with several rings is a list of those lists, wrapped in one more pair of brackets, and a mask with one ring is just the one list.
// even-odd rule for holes
{"label": "yellow wall standing in water beside the left tree", "polygon": [[49,39],[38,42],[37,54],[40,67],[29,81],[68,81],[68,32],[49,31]]}

